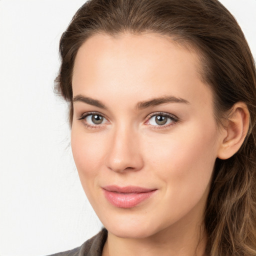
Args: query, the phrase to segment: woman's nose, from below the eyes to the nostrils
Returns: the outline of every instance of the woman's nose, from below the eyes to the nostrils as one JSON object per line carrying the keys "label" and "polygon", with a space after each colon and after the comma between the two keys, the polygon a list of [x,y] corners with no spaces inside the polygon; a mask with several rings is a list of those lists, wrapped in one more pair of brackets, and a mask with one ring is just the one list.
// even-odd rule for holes
{"label": "woman's nose, from below the eyes to the nostrils", "polygon": [[138,134],[128,127],[116,128],[109,137],[107,168],[115,172],[137,171],[143,166]]}

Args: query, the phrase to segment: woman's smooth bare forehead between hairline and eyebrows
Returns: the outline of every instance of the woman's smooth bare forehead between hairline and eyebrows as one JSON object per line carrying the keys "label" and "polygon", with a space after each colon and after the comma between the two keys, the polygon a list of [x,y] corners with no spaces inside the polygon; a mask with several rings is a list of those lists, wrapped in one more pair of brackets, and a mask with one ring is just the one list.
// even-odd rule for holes
{"label": "woman's smooth bare forehead between hairline and eyebrows", "polygon": [[104,90],[105,95],[136,95],[138,100],[166,93],[203,97],[209,87],[203,83],[200,70],[199,55],[168,37],[152,33],[95,34],[77,52],[73,95],[103,97]]}

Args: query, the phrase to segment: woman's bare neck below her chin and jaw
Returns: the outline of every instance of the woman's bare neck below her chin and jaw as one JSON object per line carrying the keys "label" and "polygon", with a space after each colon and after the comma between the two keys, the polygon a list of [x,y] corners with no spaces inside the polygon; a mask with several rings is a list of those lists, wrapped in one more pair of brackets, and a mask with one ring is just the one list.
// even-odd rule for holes
{"label": "woman's bare neck below her chin and jaw", "polygon": [[102,256],[204,256],[207,241],[204,226],[191,224],[168,227],[146,238],[122,238],[108,232]]}

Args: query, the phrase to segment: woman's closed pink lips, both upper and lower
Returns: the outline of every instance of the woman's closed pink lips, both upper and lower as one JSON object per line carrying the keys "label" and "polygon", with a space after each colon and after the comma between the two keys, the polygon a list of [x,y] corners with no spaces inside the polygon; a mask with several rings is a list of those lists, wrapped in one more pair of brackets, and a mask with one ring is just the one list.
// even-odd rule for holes
{"label": "woman's closed pink lips, both upper and lower", "polygon": [[102,187],[105,198],[119,208],[131,208],[149,198],[156,189],[139,186],[119,187],[115,185]]}

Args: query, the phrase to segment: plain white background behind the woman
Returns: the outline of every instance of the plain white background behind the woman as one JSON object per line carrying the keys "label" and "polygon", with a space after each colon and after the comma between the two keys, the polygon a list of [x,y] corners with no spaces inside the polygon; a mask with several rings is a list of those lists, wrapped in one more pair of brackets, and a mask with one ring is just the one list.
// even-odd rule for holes
{"label": "plain white background behind the woman", "polygon": [[[256,0],[221,0],[256,56]],[[84,0],[0,0],[0,255],[71,249],[101,227],[54,95],[58,41]]]}

